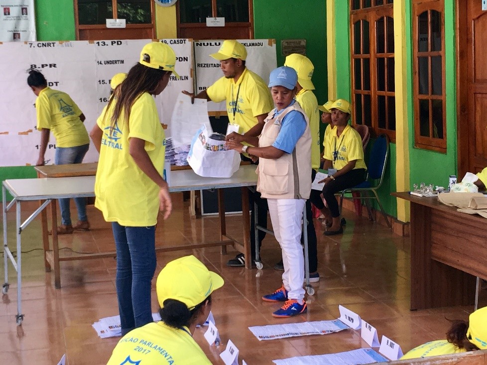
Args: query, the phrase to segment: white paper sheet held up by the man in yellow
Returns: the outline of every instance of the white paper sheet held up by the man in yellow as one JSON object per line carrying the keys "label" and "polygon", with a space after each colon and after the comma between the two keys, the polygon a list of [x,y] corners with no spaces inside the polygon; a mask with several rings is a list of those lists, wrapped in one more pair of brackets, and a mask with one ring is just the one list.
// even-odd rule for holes
{"label": "white paper sheet held up by the man in yellow", "polygon": [[212,130],[206,99],[195,98],[194,104],[191,104],[191,97],[180,93],[169,124],[174,148],[191,144],[195,133],[203,124]]}

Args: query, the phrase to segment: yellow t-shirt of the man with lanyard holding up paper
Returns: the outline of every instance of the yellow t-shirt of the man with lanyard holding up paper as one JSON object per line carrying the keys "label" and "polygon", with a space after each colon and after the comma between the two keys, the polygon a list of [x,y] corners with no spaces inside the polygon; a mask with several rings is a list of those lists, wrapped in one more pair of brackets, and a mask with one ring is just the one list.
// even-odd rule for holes
{"label": "yellow t-shirt of the man with lanyard holding up paper", "polygon": [[215,103],[226,101],[228,118],[231,123],[240,125],[240,133],[247,132],[257,124],[255,117],[268,114],[274,109],[274,102],[264,80],[247,69],[237,82],[233,78],[222,77],[206,89],[206,93]]}

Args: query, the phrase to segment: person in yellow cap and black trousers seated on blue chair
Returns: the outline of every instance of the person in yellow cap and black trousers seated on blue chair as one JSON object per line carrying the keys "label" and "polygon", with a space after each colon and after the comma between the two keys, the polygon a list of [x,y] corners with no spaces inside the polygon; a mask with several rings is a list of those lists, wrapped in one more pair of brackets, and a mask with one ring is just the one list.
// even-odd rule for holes
{"label": "person in yellow cap and black trousers seated on blue chair", "polygon": [[[337,171],[320,181],[325,183],[323,198],[327,203],[327,207],[322,210],[329,226],[329,229],[323,233],[325,236],[343,233],[343,227],[340,224],[340,208],[335,193],[365,181],[367,169],[362,138],[357,130],[348,123],[352,113],[350,103],[344,99],[338,99],[330,106],[330,111],[336,127],[325,138],[323,168],[326,170],[334,168]],[[329,225],[330,222],[331,225]]]}

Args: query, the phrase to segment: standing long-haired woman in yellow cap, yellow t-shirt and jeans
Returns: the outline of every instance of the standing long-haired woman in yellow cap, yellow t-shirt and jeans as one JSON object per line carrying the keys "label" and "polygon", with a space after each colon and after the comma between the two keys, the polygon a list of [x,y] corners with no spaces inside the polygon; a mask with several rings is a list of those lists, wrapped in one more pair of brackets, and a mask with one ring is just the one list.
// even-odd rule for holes
{"label": "standing long-haired woman in yellow cap, yellow t-shirt and jeans", "polygon": [[[160,42],[146,44],[90,135],[100,152],[95,206],[112,229],[117,249],[117,296],[122,335],[152,322],[155,225],[172,204],[162,178],[165,135],[154,98],[167,86],[176,55]],[[177,74],[176,74],[177,76]]]}

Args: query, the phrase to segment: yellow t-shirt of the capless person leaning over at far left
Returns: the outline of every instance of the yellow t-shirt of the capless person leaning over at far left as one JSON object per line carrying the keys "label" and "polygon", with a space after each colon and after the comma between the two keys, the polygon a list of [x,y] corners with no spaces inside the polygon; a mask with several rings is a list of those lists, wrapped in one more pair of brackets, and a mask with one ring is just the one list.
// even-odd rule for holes
{"label": "yellow t-shirt of the capless person leaning over at far left", "polygon": [[37,130],[50,129],[56,147],[76,147],[90,143],[80,108],[62,91],[45,88],[35,100]]}

